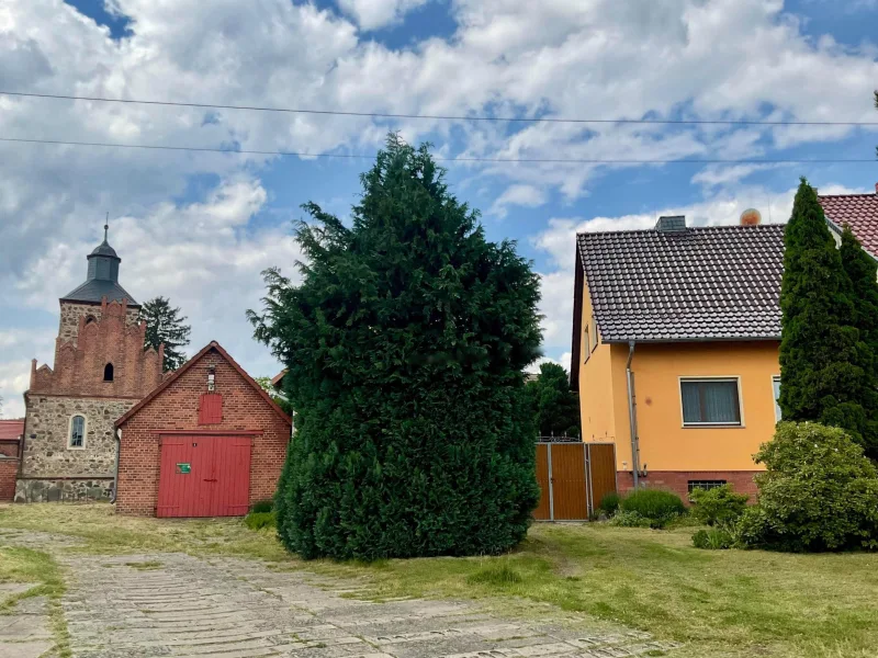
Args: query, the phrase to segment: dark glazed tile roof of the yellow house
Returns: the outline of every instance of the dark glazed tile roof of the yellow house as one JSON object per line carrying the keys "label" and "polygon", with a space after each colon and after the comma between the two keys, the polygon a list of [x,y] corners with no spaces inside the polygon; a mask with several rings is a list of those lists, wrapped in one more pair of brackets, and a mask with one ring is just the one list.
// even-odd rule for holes
{"label": "dark glazed tile roof of the yellow house", "polygon": [[784,227],[579,234],[601,340],[780,338]]}

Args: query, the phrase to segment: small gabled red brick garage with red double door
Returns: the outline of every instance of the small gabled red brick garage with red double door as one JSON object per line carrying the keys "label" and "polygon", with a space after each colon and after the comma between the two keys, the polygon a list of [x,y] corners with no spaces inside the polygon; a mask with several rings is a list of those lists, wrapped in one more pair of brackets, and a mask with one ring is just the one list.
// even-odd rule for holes
{"label": "small gabled red brick garage with red double door", "polygon": [[274,495],[292,424],[214,341],[116,428],[119,512],[234,517]]}

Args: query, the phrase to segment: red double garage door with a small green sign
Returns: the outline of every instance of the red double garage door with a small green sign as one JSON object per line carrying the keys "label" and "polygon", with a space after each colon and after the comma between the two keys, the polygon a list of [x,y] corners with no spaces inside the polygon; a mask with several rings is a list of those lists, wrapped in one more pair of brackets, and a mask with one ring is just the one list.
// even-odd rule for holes
{"label": "red double garage door with a small green sign", "polygon": [[241,517],[249,494],[249,436],[161,438],[157,517]]}

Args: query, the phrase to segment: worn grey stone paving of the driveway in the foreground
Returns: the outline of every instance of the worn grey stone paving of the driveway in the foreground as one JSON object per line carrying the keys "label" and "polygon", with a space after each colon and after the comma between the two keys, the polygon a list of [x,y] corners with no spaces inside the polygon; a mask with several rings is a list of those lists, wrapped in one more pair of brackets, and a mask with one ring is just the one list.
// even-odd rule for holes
{"label": "worn grey stone paving of the driveway in the foreground", "polygon": [[[358,600],[357,582],[256,560],[54,554],[68,576],[61,606],[76,658],[629,658],[679,646],[498,619],[472,602]],[[0,656],[18,658],[4,653],[13,646],[0,639]]]}

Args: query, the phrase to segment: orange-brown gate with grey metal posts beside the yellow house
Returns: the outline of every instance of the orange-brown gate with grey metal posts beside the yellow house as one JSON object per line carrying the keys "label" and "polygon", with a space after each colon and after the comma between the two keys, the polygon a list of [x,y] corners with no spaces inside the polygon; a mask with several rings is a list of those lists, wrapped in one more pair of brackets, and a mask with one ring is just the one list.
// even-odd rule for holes
{"label": "orange-brown gate with grey metal posts beside the yellow house", "polygon": [[616,444],[537,443],[538,521],[586,521],[616,491]]}

